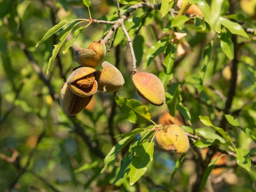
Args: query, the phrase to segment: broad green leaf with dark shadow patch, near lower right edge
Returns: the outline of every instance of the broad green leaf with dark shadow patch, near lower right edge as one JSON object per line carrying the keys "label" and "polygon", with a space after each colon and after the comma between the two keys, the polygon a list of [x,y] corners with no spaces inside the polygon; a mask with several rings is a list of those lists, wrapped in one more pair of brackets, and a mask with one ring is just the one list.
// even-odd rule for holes
{"label": "broad green leaf with dark shadow patch, near lower right edge", "polygon": [[251,160],[249,156],[249,150],[237,148],[236,149],[236,162],[239,166],[243,167],[247,171],[250,171]]}

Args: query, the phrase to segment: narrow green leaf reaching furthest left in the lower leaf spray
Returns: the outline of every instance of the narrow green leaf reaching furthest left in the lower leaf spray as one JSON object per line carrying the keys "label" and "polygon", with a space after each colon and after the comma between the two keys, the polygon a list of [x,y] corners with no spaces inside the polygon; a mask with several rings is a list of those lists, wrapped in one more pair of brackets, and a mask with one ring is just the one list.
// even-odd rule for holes
{"label": "narrow green leaf reaching furthest left in the lower leaf spray", "polygon": [[105,165],[102,168],[101,173],[105,172],[105,170],[107,169],[108,165],[113,160],[116,159],[117,154],[119,153],[119,151],[121,151],[134,137],[135,137],[135,135],[130,136],[130,137],[125,137],[124,139],[119,141],[115,146],[112,147],[112,149],[109,151],[109,153],[105,157],[105,160],[104,160]]}

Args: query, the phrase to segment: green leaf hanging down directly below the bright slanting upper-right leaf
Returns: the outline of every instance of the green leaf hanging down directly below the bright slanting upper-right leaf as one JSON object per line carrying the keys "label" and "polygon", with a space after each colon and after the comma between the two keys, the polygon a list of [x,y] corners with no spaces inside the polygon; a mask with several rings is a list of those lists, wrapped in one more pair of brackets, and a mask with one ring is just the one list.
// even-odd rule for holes
{"label": "green leaf hanging down directly below the bright slanting upper-right leaf", "polygon": [[234,58],[234,44],[231,40],[231,34],[225,28],[221,29],[221,34],[219,35],[221,40],[221,49],[227,55],[228,58]]}

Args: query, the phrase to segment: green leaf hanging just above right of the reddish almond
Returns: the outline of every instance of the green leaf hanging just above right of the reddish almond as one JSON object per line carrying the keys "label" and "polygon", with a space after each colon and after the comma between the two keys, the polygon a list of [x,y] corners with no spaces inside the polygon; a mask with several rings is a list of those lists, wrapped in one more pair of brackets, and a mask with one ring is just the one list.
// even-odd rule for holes
{"label": "green leaf hanging just above right of the reddish almond", "polygon": [[167,84],[173,78],[173,66],[175,61],[175,47],[173,44],[168,43],[166,47],[166,55],[163,61],[163,71],[159,73],[159,79],[163,83],[163,87],[167,87]]}

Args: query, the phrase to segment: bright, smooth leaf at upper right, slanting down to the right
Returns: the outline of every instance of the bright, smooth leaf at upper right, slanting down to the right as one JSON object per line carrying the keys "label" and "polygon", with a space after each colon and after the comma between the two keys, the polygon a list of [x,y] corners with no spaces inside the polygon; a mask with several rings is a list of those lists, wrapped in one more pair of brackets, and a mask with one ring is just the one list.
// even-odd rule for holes
{"label": "bright, smooth leaf at upper right, slanting down to the right", "polygon": [[219,20],[221,22],[221,25],[226,27],[232,34],[241,35],[243,37],[249,38],[249,36],[244,31],[242,26],[239,25],[238,23],[235,23],[235,22],[228,20],[224,17],[220,17]]}

